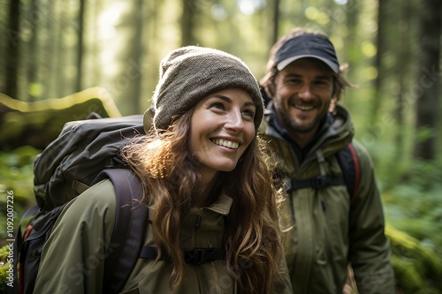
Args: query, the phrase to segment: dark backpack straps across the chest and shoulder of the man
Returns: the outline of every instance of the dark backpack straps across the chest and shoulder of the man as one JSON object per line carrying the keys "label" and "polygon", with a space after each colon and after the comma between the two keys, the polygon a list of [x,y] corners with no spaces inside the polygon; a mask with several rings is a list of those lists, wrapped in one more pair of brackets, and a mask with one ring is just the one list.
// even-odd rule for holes
{"label": "dark backpack straps across the chest and shoulder of the man", "polygon": [[348,195],[350,195],[350,204],[353,205],[361,180],[359,158],[356,151],[354,151],[354,147],[351,142],[338,152],[337,157],[344,178],[330,176],[318,176],[309,179],[291,178],[286,183],[287,189],[322,189],[330,185],[347,185],[347,192]]}

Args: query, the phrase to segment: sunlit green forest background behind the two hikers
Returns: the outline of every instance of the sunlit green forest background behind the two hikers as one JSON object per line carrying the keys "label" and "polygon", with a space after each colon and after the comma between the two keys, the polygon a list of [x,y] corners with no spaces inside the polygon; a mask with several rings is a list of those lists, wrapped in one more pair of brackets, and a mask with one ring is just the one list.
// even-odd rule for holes
{"label": "sunlit green forest background behind the two hikers", "polygon": [[442,293],[440,0],[0,0],[0,246],[7,195],[17,229],[34,158],[66,122],[143,113],[180,46],[225,50],[261,79],[297,26],[330,36],[348,64],[340,103],[375,164],[397,293]]}

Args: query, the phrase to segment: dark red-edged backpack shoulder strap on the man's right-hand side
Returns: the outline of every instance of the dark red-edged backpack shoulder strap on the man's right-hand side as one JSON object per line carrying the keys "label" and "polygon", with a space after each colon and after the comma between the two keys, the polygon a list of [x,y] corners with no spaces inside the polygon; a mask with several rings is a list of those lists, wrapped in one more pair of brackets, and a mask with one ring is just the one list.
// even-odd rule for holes
{"label": "dark red-edged backpack shoulder strap on the man's right-hand side", "polygon": [[348,194],[350,195],[350,204],[353,205],[361,180],[361,168],[358,155],[351,142],[348,143],[347,147],[339,151],[338,162],[344,175]]}

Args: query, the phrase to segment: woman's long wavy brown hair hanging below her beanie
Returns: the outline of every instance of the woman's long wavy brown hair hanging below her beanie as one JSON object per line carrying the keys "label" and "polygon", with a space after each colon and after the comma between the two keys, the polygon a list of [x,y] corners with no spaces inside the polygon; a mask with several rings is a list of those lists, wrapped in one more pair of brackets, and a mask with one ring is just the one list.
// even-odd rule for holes
{"label": "woman's long wavy brown hair hanging below her beanie", "polygon": [[[188,149],[192,111],[179,117],[169,130],[135,139],[122,156],[141,178],[145,201],[154,207],[152,230],[157,248],[171,255],[171,290],[183,279],[185,261],[180,248],[180,220],[201,189],[201,175]],[[240,293],[270,293],[282,283],[278,228],[281,194],[272,185],[272,170],[263,142],[257,137],[230,172],[219,172],[212,192],[224,190],[233,200],[226,216],[226,267]]]}

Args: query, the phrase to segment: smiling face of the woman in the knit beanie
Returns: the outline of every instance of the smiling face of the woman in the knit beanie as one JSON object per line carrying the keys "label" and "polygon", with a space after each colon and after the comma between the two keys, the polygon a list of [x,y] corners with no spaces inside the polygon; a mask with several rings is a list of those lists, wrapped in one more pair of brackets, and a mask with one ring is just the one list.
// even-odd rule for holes
{"label": "smiling face of the woman in the knit beanie", "polygon": [[230,88],[195,105],[190,126],[190,152],[202,177],[236,167],[255,138],[255,104],[248,92]]}

